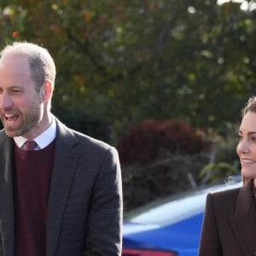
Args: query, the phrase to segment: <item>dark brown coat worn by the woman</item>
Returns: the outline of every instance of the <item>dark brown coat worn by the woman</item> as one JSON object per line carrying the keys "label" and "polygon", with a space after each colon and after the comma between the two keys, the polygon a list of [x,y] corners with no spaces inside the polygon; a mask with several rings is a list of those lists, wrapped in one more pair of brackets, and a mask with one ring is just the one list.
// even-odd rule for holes
{"label": "dark brown coat worn by the woman", "polygon": [[256,255],[253,180],[239,189],[207,195],[199,256]]}

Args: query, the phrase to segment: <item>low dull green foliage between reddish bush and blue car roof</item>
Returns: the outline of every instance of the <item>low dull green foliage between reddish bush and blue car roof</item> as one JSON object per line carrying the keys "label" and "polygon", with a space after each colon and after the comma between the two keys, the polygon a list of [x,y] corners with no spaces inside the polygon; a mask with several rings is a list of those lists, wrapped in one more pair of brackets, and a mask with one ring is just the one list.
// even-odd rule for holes
{"label": "low dull green foliage between reddish bush and blue car roof", "polygon": [[173,195],[200,183],[198,170],[207,164],[207,154],[173,154],[146,165],[122,168],[125,211],[155,199]]}

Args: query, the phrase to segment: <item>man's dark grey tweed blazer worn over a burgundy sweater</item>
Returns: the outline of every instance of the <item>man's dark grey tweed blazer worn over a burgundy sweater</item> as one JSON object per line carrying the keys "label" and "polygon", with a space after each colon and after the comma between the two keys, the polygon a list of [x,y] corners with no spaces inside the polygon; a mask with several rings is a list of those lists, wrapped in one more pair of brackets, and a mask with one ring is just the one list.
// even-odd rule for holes
{"label": "man's dark grey tweed blazer worn over a burgundy sweater", "polygon": [[[46,256],[119,256],[122,187],[115,148],[56,119]],[[0,255],[15,255],[13,139],[0,131]]]}

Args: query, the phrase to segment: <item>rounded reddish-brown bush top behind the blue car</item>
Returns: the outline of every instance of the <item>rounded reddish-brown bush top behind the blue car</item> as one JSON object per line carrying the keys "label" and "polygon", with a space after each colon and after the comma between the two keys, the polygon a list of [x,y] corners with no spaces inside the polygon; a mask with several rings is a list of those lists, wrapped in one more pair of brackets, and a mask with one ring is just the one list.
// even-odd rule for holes
{"label": "rounded reddish-brown bush top behind the blue car", "polygon": [[145,164],[169,154],[195,154],[207,146],[183,121],[146,119],[127,131],[118,144],[123,165]]}

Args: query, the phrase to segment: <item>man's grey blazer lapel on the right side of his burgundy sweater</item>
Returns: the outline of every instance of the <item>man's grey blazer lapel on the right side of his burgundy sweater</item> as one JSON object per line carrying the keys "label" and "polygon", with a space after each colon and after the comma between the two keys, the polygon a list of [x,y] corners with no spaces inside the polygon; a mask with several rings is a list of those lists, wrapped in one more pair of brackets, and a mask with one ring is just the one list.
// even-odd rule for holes
{"label": "man's grey blazer lapel on the right side of his burgundy sweater", "polygon": [[79,162],[79,152],[73,148],[78,140],[57,120],[55,161],[49,190],[46,230],[47,256],[53,256],[65,211],[69,191]]}

